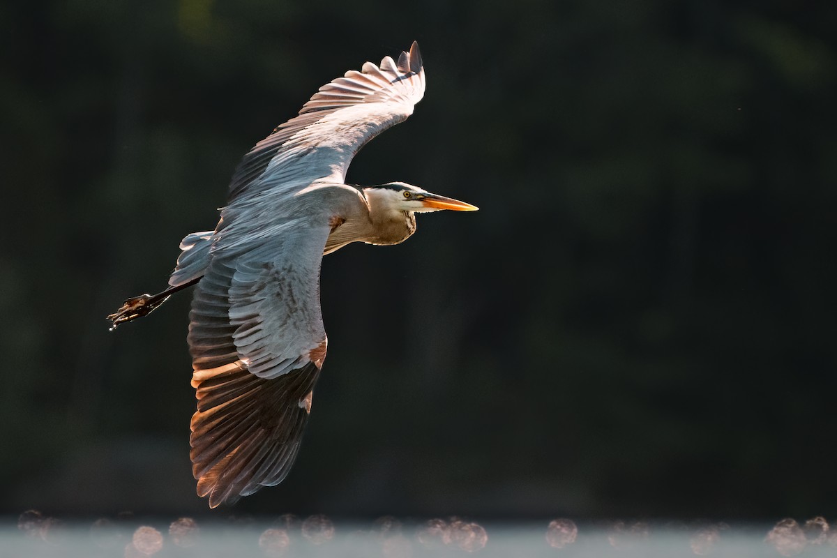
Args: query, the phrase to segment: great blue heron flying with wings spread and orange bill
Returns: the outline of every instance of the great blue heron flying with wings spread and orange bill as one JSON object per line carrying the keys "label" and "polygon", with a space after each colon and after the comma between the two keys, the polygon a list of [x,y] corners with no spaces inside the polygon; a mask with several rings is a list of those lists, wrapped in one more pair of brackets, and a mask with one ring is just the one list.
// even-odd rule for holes
{"label": "great blue heron flying with wings spread and orange bill", "polygon": [[401,243],[416,212],[477,209],[403,182],[344,183],[357,151],[423,96],[416,43],[398,64],[367,62],[322,86],[244,156],[218,226],[183,238],[169,287],[108,316],[115,328],[197,284],[190,442],[198,495],[211,508],[279,484],[296,458],[326,358],[322,256],[352,242]]}

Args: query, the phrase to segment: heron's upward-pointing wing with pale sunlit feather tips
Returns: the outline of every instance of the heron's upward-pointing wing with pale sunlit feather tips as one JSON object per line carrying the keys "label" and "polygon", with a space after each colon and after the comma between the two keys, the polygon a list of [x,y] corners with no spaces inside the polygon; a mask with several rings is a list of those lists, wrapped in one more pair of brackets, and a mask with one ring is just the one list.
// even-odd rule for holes
{"label": "heron's upward-pointing wing with pale sunlit feather tips", "polygon": [[318,179],[342,183],[352,157],[367,141],[413,114],[424,96],[419,44],[398,63],[363,64],[323,85],[300,110],[244,156],[229,199],[272,188],[305,187]]}

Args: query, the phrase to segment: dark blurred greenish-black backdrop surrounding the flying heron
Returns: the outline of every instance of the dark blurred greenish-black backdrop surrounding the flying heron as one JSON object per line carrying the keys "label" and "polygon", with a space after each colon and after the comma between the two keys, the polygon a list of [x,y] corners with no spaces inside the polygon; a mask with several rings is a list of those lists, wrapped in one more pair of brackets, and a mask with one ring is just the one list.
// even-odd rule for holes
{"label": "dark blurred greenish-black backdrop surrounding the flying heron", "polygon": [[[234,513],[837,515],[837,3],[0,8],[0,513],[206,510],[189,295],[239,158],[418,39],[348,180],[480,206],[326,258],[300,458]],[[221,509],[214,514],[229,514]]]}

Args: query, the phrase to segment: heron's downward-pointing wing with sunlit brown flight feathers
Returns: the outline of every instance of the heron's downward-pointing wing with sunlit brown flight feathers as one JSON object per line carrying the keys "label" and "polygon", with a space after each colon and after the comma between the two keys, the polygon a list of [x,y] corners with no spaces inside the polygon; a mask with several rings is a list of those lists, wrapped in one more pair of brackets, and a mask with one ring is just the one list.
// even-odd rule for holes
{"label": "heron's downward-pointing wing with sunlit brown flight feathers", "polygon": [[326,358],[319,278],[329,230],[290,223],[230,253],[222,235],[198,284],[191,457],[210,507],[279,484],[295,460]]}

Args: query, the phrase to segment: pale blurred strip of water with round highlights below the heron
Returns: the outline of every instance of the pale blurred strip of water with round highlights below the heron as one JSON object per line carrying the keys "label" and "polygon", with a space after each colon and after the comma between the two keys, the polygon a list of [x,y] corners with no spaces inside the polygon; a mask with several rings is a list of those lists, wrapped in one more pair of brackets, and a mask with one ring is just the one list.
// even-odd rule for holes
{"label": "pale blurred strip of water with round highlights below the heron", "polygon": [[[12,522],[13,523],[13,522]],[[251,515],[216,520],[202,529],[190,517],[141,523],[131,513],[91,523],[67,523],[29,509],[16,525],[0,524],[0,556],[117,556],[126,558],[255,555],[340,556],[341,558],[421,558],[422,556],[530,556],[560,551],[567,555],[607,558],[649,556],[834,555],[837,533],[816,516],[806,521],[779,520],[771,528],[752,525],[732,529],[721,522],[691,524],[618,520],[580,529],[567,518],[543,525],[494,525],[492,531],[475,520],[451,516],[423,522],[384,515],[367,525],[350,523],[338,530],[325,514],[300,520],[283,514],[274,520]],[[157,525],[157,526],[155,526]],[[168,525],[167,530],[160,525]],[[11,529],[9,528],[11,527]],[[579,532],[583,531],[583,537]],[[766,534],[766,535],[765,535]],[[546,543],[546,544],[545,544]],[[767,550],[767,554],[765,551]]]}

